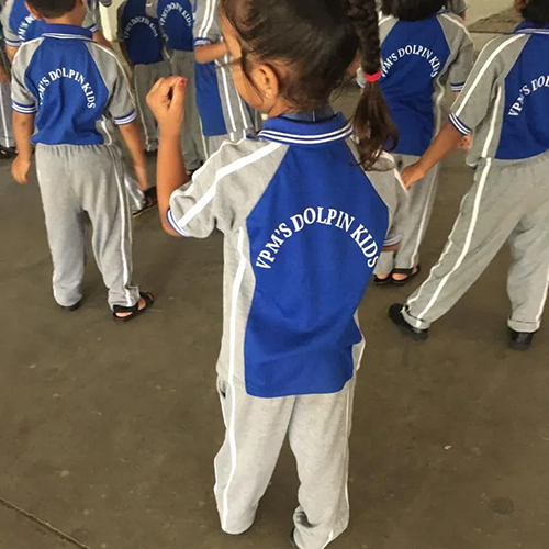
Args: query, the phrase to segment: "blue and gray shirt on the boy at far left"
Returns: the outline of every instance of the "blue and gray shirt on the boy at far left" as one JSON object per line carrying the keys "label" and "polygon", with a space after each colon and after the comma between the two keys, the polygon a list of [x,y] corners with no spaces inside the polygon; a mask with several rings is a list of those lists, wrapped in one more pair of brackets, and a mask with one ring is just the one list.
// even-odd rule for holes
{"label": "blue and gray shirt on the boy at far left", "polygon": [[133,122],[135,107],[116,55],[80,26],[45,24],[20,47],[12,67],[13,110],[35,114],[33,143],[103,145],[112,121]]}

